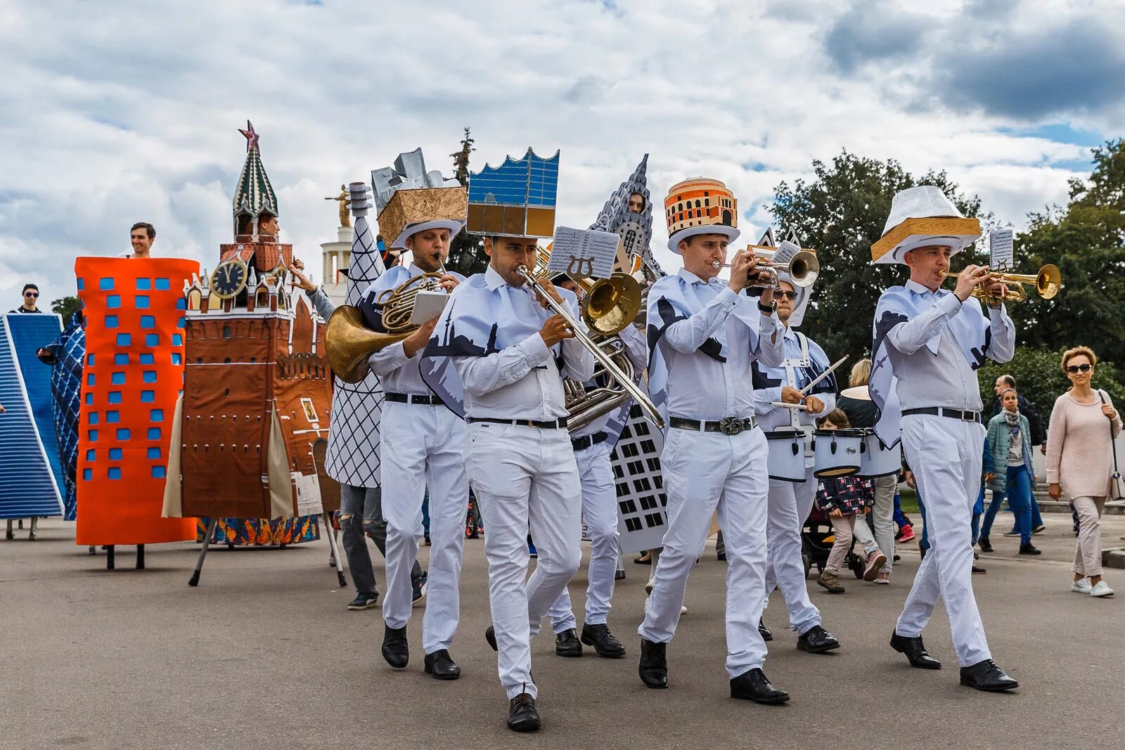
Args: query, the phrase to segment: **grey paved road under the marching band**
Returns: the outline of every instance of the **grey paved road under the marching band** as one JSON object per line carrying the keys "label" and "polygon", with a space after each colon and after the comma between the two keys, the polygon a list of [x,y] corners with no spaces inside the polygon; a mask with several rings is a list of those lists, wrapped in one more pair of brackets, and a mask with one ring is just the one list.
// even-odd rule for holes
{"label": "grey paved road under the marching band", "polygon": [[[38,542],[0,541],[0,748],[1108,744],[1125,729],[1125,571],[1107,571],[1116,599],[1071,593],[1068,522],[1047,517],[1036,543],[1048,553],[1034,560],[1015,555],[1016,540],[993,536],[998,553],[986,555],[988,573],[974,578],[993,653],[1023,683],[1015,695],[957,685],[943,609],[926,639],[944,670],[910,669],[886,647],[918,567],[911,545],[890,587],[848,580],[846,594],[831,596],[812,586],[826,625],[844,642],[838,653],[796,651],[774,594],[766,621],[777,639],[766,670],[793,699],[782,707],[731,701],[722,668],[726,567],[709,553],[692,576],[690,613],[668,650],[669,689],[646,689],[637,678],[648,569],[627,562],[611,625],[629,657],[559,659],[549,634],[540,635],[532,649],[544,729],[518,737],[504,728],[495,654],[482,636],[482,541],[466,542],[453,649],[465,675],[438,683],[422,674],[421,617],[411,623],[407,670],[392,672],[382,662],[379,611],[344,611],[350,593],[336,588],[323,541],[216,550],[192,589],[194,544],[148,548],[144,571],[127,567],[126,549],[109,572],[104,557],[74,545],[71,525],[48,521]],[[1107,518],[1104,530],[1107,544],[1125,544],[1125,517]],[[584,586],[583,570],[572,585],[576,604]]]}

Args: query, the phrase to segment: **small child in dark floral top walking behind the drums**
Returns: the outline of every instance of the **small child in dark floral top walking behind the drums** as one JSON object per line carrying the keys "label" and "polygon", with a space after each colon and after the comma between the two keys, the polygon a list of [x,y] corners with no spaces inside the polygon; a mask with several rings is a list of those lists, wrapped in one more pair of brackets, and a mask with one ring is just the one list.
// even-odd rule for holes
{"label": "small child in dark floral top walking behind the drums", "polygon": [[[832,409],[822,417],[817,426],[820,430],[843,430],[848,426],[847,416],[840,409]],[[860,477],[826,477],[821,479],[817,487],[817,505],[828,514],[828,519],[836,531],[836,540],[832,542],[832,550],[828,553],[828,561],[820,573],[817,582],[828,589],[829,594],[843,594],[840,586],[840,563],[852,551],[852,536],[863,545],[866,564],[864,566],[863,579],[875,580],[880,575],[886,555],[880,551],[875,544],[875,537],[871,535],[871,530],[863,521],[861,514],[871,504],[873,490],[870,479]],[[856,523],[856,515],[860,515],[860,523]]]}

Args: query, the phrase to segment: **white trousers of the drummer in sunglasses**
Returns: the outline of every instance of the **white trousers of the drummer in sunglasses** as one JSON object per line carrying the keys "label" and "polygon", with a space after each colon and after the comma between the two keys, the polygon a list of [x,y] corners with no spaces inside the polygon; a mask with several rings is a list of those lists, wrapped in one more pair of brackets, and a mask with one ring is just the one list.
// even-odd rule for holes
{"label": "white trousers of the drummer in sunglasses", "polygon": [[820,611],[809,600],[801,558],[801,527],[812,512],[817,495],[814,467],[807,467],[804,481],[770,480],[770,523],[766,526],[768,558],[766,597],[774,586],[781,588],[789,607],[789,627],[803,634],[820,624]]}

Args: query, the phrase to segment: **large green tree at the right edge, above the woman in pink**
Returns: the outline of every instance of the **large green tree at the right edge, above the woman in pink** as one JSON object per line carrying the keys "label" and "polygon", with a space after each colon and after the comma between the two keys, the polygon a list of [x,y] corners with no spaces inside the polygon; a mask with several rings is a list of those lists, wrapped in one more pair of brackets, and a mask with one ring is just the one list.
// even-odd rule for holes
{"label": "large green tree at the right edge, above the woman in pink", "polygon": [[1071,180],[1069,205],[1032,214],[1027,232],[1016,238],[1019,269],[1054,263],[1062,290],[1052,300],[1009,309],[1023,345],[1081,344],[1101,359],[1125,362],[1125,141],[1107,142],[1092,154],[1094,172],[1086,181]]}

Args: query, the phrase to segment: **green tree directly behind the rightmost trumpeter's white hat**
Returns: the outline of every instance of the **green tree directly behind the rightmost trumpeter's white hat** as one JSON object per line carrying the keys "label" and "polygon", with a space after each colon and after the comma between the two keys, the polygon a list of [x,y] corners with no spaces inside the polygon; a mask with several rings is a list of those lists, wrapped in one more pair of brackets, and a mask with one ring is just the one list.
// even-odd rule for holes
{"label": "green tree directly behind the rightmost trumpeter's white hat", "polygon": [[[817,251],[820,278],[804,315],[804,327],[814,332],[829,359],[850,354],[852,361],[871,354],[871,326],[883,289],[903,283],[907,273],[897,265],[873,265],[871,245],[883,234],[896,192],[918,184],[939,187],[965,216],[981,216],[976,196],[961,195],[945,172],[912,177],[893,160],[879,161],[842,152],[825,163],[812,162],[813,178],[782,182],[774,189],[770,213],[782,234],[796,232],[801,244]],[[955,268],[979,260],[970,250],[957,255]]]}

